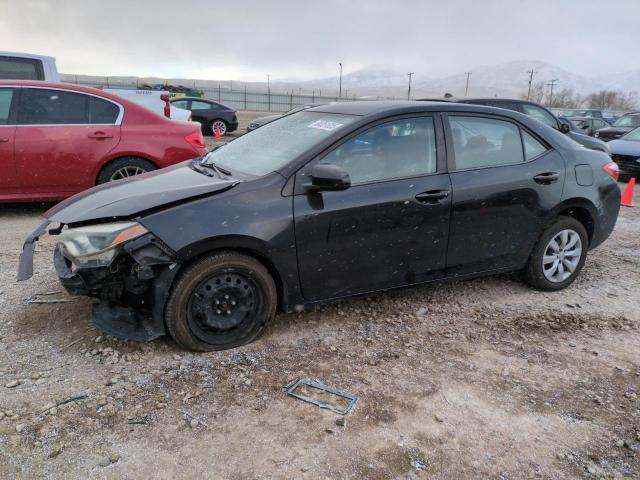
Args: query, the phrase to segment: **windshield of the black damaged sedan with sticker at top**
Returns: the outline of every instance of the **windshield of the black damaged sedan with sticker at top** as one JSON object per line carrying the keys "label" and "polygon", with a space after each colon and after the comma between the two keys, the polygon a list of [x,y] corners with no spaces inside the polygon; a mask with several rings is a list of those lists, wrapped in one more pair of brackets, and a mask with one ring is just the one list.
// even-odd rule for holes
{"label": "windshield of the black damaged sedan with sticker at top", "polygon": [[213,162],[231,172],[266,175],[356,118],[309,111],[294,113],[208,153],[204,163]]}

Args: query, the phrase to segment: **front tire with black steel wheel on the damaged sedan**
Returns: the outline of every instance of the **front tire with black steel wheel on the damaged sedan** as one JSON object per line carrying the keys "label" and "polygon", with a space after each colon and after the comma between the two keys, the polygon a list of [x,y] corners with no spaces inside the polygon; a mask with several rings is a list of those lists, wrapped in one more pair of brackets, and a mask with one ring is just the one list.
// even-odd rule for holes
{"label": "front tire with black steel wheel on the damaged sedan", "polygon": [[165,323],[183,348],[226,350],[258,338],[276,312],[272,276],[255,258],[218,252],[189,265],[171,290]]}

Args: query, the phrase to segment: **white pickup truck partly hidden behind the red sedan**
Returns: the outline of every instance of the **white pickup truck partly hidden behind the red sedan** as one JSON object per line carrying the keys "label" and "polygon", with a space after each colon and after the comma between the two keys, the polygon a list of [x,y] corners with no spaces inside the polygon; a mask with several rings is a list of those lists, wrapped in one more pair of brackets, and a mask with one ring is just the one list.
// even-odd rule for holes
{"label": "white pickup truck partly hidden behind the red sedan", "polygon": [[[60,75],[56,67],[56,59],[53,57],[30,53],[0,52],[0,80],[59,82]],[[104,90],[172,120],[191,120],[189,110],[171,105],[169,92],[128,88],[105,88]]]}

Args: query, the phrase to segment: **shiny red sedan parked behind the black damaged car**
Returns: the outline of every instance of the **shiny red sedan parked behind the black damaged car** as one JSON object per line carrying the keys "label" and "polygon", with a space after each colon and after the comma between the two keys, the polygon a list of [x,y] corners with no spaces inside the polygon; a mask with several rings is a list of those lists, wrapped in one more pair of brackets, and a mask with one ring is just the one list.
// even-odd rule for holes
{"label": "shiny red sedan parked behind the black damaged car", "polygon": [[62,200],[206,153],[200,124],[102,90],[0,82],[0,201]]}

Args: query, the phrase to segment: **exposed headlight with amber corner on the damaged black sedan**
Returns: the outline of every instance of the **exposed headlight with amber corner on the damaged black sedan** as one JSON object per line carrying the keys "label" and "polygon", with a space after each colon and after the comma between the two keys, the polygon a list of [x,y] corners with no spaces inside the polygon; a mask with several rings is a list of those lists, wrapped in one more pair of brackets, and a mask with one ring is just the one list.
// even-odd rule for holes
{"label": "exposed headlight with amber corner on the damaged black sedan", "polygon": [[144,235],[147,229],[136,222],[115,222],[65,230],[58,248],[76,267],[106,267],[123,243]]}

